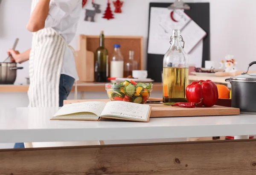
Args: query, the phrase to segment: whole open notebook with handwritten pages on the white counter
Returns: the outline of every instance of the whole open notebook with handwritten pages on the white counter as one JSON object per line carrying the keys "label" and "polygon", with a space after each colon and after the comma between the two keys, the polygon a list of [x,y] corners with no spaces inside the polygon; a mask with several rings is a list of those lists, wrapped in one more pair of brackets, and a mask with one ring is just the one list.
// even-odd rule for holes
{"label": "whole open notebook with handwritten pages on the white counter", "polygon": [[80,102],[65,104],[51,120],[98,121],[100,118],[149,121],[151,106],[131,102]]}

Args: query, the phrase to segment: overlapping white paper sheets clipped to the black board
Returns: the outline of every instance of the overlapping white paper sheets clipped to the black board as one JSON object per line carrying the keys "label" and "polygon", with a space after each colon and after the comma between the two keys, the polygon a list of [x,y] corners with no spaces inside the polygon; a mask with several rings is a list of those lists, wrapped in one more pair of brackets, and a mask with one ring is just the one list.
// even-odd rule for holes
{"label": "overlapping white paper sheets clipped to the black board", "polygon": [[203,57],[203,38],[207,33],[192,20],[183,10],[175,10],[173,21],[172,10],[161,7],[151,7],[148,34],[148,54],[164,55],[170,47],[172,31],[180,30],[185,42],[184,51],[188,54],[189,64],[201,67]]}

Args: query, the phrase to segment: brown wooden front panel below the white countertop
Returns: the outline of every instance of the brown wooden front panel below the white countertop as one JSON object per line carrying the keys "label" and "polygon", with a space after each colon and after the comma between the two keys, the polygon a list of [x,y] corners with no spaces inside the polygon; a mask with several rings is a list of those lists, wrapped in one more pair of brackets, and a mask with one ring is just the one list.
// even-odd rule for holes
{"label": "brown wooden front panel below the white countertop", "polygon": [[0,150],[0,175],[255,175],[256,140]]}

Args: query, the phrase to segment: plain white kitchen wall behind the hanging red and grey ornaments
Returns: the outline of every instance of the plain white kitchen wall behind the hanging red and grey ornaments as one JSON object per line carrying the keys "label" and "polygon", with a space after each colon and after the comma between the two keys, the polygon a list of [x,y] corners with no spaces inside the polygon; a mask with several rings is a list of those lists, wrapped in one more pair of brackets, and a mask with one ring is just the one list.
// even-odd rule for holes
{"label": "plain white kitchen wall behind the hanging red and grey ornaments", "polygon": [[[102,4],[101,9],[104,12],[106,0],[95,0],[95,2]],[[115,15],[116,18],[109,21],[102,19],[102,14],[97,14],[96,23],[85,22],[83,11],[77,36],[71,45],[77,47],[79,34],[98,35],[101,30],[104,30],[106,35],[143,36],[146,48],[149,2],[173,2],[173,0],[125,0],[122,14]],[[211,3],[211,59],[217,65],[226,54],[235,55],[240,70],[245,70],[249,62],[255,60],[255,0],[186,0],[186,2]],[[30,3],[31,0],[2,0],[0,5],[0,61],[6,58],[6,51],[12,47],[16,37],[20,38],[17,46],[19,51],[25,51],[30,47],[31,34],[26,31]],[[86,7],[89,5],[90,3],[87,3]],[[144,51],[146,54],[146,49]],[[16,84],[26,83],[28,63],[22,66],[24,69],[18,70]]]}

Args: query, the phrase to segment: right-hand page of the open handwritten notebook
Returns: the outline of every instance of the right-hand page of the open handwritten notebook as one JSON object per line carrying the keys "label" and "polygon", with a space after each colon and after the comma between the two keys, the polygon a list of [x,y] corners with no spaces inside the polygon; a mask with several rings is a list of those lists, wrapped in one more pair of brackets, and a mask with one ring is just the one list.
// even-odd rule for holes
{"label": "right-hand page of the open handwritten notebook", "polygon": [[149,111],[149,105],[113,101],[106,104],[101,116],[119,116],[124,119],[145,121],[148,118]]}

